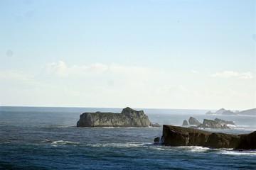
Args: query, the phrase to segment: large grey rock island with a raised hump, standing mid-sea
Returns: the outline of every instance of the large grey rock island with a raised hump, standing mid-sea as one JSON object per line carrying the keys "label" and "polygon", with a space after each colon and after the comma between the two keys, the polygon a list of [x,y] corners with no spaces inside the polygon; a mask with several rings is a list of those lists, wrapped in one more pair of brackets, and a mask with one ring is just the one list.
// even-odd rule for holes
{"label": "large grey rock island with a raised hump, standing mid-sea", "polygon": [[148,127],[158,126],[149,121],[144,111],[124,108],[122,113],[82,113],[77,127]]}

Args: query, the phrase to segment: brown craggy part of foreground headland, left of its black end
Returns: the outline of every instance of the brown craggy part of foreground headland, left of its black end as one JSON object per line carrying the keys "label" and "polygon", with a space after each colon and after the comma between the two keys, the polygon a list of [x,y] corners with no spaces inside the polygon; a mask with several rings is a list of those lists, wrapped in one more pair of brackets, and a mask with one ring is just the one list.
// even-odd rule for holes
{"label": "brown craggy part of foreground headland, left of its black end", "polygon": [[166,146],[202,146],[212,148],[234,148],[240,142],[240,135],[207,132],[193,128],[163,125],[161,137]]}

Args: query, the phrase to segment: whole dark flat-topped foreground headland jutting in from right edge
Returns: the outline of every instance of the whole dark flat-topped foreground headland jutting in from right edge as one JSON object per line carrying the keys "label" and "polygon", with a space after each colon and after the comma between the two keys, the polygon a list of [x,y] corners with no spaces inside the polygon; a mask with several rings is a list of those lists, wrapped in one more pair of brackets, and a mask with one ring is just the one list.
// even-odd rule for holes
{"label": "whole dark flat-topped foreground headland jutting in from right edge", "polygon": [[256,131],[244,135],[230,135],[220,132],[207,132],[193,128],[163,125],[161,145],[201,146],[210,148],[256,149]]}

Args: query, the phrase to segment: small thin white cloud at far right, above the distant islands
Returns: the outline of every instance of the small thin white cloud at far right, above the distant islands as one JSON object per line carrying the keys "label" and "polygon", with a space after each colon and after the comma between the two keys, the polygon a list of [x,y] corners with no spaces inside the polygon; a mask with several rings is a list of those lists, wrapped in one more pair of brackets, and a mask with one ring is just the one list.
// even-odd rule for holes
{"label": "small thin white cloud at far right, above the distant islands", "polygon": [[210,77],[222,77],[222,78],[229,78],[229,77],[237,77],[239,79],[253,79],[252,72],[233,72],[233,71],[223,71],[223,72],[216,72],[213,74],[209,74]]}

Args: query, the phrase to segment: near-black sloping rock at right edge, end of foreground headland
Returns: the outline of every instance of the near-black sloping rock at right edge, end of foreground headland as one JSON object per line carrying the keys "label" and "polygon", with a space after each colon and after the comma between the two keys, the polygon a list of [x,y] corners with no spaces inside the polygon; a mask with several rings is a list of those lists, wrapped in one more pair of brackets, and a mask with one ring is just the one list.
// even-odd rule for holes
{"label": "near-black sloping rock at right edge, end of foreground headland", "polygon": [[249,135],[241,135],[240,142],[235,149],[256,149],[256,131]]}

